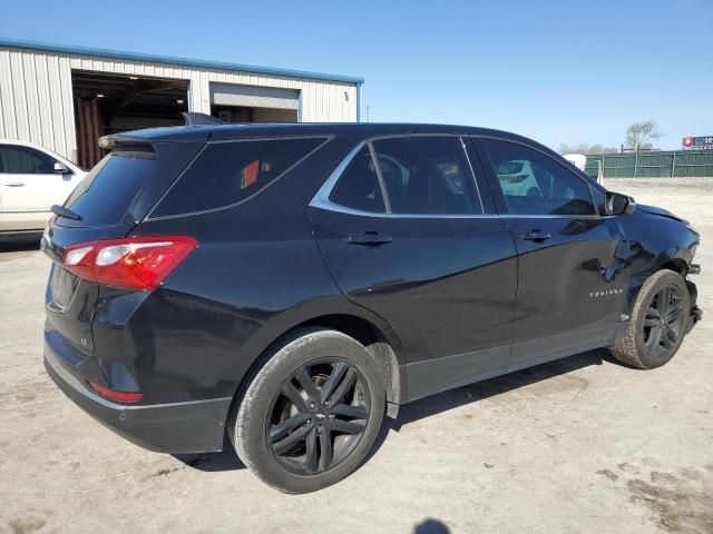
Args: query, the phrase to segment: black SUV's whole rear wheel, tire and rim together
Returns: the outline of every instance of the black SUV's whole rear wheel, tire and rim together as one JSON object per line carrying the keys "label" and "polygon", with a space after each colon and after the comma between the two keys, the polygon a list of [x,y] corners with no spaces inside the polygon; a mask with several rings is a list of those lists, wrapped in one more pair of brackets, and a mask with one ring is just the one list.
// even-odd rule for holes
{"label": "black SUV's whole rear wheel, tire and rim together", "polygon": [[228,429],[258,478],[284,493],[307,493],[361,465],[384,408],[379,366],[363,345],[336,330],[300,329],[271,350]]}

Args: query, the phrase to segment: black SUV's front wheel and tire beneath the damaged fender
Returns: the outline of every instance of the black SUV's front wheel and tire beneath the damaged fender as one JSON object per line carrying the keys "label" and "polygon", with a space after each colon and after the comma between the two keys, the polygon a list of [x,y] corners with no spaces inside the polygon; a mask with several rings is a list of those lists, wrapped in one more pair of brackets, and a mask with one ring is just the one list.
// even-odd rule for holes
{"label": "black SUV's front wheel and tire beneath the damaged fender", "polygon": [[661,367],[681,347],[690,329],[690,310],[691,295],[683,277],[666,269],[653,274],[642,286],[626,332],[612,353],[641,369]]}

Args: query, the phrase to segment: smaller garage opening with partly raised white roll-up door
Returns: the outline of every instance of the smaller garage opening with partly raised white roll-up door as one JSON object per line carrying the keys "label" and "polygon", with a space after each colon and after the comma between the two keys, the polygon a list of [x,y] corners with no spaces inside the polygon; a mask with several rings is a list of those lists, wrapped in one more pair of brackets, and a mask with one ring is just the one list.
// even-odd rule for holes
{"label": "smaller garage opening with partly raised white roll-up door", "polygon": [[225,122],[297,122],[300,91],[211,83],[211,115]]}

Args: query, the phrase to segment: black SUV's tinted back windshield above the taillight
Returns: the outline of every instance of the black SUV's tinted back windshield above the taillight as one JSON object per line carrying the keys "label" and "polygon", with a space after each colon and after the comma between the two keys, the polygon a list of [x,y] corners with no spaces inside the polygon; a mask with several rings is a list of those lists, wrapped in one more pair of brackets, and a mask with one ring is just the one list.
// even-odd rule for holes
{"label": "black SUV's tinted back windshield above the taillight", "polygon": [[81,180],[65,206],[80,215],[84,224],[118,224],[155,164],[153,152],[111,152]]}

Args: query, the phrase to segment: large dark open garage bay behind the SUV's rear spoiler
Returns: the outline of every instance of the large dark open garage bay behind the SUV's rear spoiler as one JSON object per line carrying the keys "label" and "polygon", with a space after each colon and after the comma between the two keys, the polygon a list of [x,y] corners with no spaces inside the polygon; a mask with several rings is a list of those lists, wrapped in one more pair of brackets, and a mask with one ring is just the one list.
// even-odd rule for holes
{"label": "large dark open garage bay behind the SUV's rear spoiler", "polygon": [[133,75],[71,71],[77,162],[94,167],[104,157],[97,139],[141,128],[182,126],[188,81]]}

